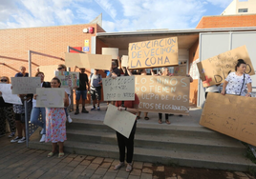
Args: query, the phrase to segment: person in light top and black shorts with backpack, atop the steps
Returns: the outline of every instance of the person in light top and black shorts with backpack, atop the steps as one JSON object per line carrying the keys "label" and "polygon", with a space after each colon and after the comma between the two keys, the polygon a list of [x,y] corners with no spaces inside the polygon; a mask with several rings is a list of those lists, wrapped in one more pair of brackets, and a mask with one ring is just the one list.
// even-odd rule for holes
{"label": "person in light top and black shorts with backpack, atop the steps", "polygon": [[97,103],[97,110],[100,110],[99,101],[101,100],[102,77],[98,73],[98,70],[95,70],[94,73],[90,75],[89,84],[91,85],[90,93],[93,100],[93,107],[91,110],[96,109],[96,103]]}

